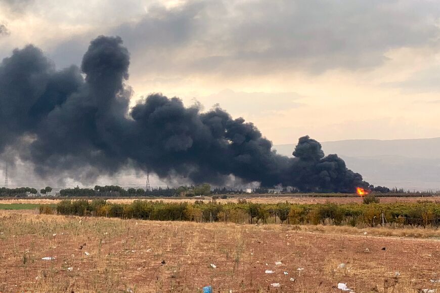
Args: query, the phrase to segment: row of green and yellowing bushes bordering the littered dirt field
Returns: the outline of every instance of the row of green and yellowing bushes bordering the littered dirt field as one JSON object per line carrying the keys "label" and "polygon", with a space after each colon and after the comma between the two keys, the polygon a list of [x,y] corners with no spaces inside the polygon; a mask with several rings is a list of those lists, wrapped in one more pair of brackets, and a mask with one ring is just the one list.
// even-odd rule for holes
{"label": "row of green and yellowing bushes bordering the littered dirt field", "polygon": [[117,217],[156,221],[288,223],[350,226],[392,225],[440,226],[440,204],[428,201],[407,203],[324,203],[264,204],[239,200],[238,203],[163,202],[136,200],[130,204],[108,203],[103,199],[62,200],[55,210],[40,205],[40,213],[77,216]]}

